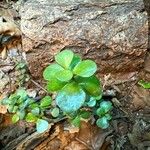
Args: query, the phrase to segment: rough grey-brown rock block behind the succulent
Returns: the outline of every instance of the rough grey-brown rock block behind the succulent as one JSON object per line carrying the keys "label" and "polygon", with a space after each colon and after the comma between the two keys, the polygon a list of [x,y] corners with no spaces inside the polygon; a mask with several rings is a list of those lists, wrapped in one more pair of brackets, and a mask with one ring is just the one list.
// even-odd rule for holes
{"label": "rough grey-brown rock block behind the succulent", "polygon": [[60,50],[98,64],[98,73],[138,70],[148,45],[142,0],[28,0],[20,10],[23,49],[39,78]]}

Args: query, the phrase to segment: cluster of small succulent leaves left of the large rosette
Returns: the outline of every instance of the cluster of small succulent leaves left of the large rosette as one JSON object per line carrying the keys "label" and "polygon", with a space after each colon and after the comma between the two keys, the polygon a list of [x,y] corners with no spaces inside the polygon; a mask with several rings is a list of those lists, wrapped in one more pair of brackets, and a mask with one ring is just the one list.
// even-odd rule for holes
{"label": "cluster of small succulent leaves left of the large rosette", "polygon": [[37,102],[35,99],[28,96],[25,89],[20,88],[9,97],[4,98],[1,103],[7,105],[8,112],[13,114],[13,123],[19,120],[34,122],[36,123],[37,131],[42,133],[48,129],[49,123],[45,120],[44,112],[51,106],[51,102],[52,99],[50,96],[45,96],[41,101]]}

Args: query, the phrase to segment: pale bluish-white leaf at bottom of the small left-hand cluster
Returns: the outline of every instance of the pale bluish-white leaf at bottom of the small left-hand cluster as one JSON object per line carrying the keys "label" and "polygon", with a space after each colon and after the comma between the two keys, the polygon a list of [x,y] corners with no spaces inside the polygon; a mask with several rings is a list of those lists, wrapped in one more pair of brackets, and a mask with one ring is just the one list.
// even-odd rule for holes
{"label": "pale bluish-white leaf at bottom of the small left-hand cluster", "polygon": [[48,129],[48,122],[43,119],[38,119],[36,122],[36,130],[38,133],[43,133]]}

